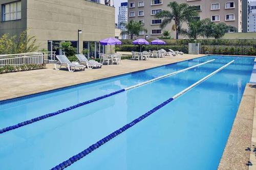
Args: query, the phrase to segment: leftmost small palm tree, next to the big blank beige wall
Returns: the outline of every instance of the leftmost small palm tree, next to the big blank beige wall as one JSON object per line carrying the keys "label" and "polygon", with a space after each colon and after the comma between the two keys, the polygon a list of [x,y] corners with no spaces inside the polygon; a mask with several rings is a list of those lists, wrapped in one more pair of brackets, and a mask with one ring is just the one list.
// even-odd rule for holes
{"label": "leftmost small palm tree, next to the big blank beige wall", "polygon": [[127,23],[121,23],[125,27],[125,30],[121,32],[122,35],[130,35],[133,39],[134,35],[139,36],[141,31],[147,32],[147,30],[141,25],[139,21],[131,20]]}

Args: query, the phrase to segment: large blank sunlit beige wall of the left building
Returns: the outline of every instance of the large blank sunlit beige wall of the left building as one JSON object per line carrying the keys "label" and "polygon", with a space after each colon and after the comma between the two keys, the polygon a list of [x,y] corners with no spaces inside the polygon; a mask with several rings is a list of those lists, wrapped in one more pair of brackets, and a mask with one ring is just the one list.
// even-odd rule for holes
{"label": "large blank sunlit beige wall of the left building", "polygon": [[42,48],[48,40],[99,41],[115,35],[115,8],[84,0],[28,0],[27,27]]}

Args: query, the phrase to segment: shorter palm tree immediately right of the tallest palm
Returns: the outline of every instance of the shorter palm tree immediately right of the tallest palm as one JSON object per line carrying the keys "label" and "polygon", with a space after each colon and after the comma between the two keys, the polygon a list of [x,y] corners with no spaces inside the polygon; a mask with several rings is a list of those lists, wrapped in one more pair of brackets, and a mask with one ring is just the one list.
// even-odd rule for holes
{"label": "shorter palm tree immediately right of the tallest palm", "polygon": [[181,34],[187,35],[189,38],[197,39],[204,36],[204,20],[195,20],[188,23],[188,29],[181,29]]}

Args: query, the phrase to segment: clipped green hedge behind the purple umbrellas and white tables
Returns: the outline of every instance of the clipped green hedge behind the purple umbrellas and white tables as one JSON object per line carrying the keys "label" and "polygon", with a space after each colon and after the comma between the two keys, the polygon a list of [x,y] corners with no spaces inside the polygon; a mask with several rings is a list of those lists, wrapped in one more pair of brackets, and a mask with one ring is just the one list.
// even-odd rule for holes
{"label": "clipped green hedge behind the purple umbrellas and white tables", "polygon": [[[164,49],[165,51],[169,51],[172,49],[174,51],[182,51],[183,53],[188,53],[188,46],[187,45],[142,45],[141,51],[155,51]],[[120,45],[116,46],[116,51],[120,52],[139,52],[140,45]]]}

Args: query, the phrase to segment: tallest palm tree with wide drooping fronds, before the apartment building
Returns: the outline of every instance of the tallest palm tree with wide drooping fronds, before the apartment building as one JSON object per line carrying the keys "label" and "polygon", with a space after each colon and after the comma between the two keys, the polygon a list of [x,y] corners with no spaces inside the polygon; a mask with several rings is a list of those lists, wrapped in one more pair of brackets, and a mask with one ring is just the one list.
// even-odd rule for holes
{"label": "tallest palm tree with wide drooping fronds, before the apartment building", "polygon": [[160,11],[156,14],[156,17],[163,18],[160,25],[161,29],[165,28],[168,23],[174,20],[175,24],[172,29],[176,31],[176,39],[179,39],[182,23],[198,16],[197,7],[189,6],[186,3],[178,4],[177,2],[170,2],[167,6],[170,7],[171,11]]}

